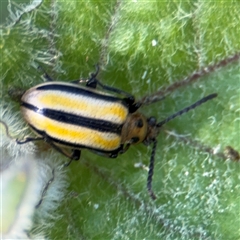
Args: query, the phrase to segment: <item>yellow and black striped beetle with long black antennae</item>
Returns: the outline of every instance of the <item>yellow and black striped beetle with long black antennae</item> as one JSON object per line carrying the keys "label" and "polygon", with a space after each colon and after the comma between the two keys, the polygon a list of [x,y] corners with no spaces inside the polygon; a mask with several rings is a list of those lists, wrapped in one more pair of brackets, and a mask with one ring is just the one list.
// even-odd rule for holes
{"label": "yellow and black striped beetle with long black antennae", "polygon": [[[152,144],[147,189],[152,190],[157,136],[162,125],[201,104],[215,98],[210,94],[194,104],[157,122],[147,118],[138,109],[132,94],[102,84],[96,77],[99,69],[90,75],[86,85],[82,81],[53,81],[46,73],[47,82],[25,91],[21,96],[23,118],[38,137],[17,140],[24,144],[44,140],[57,151],[72,160],[80,159],[81,150],[89,149],[105,157],[116,158],[133,144]],[[101,87],[102,90],[97,89]],[[66,149],[72,150],[69,154]]]}

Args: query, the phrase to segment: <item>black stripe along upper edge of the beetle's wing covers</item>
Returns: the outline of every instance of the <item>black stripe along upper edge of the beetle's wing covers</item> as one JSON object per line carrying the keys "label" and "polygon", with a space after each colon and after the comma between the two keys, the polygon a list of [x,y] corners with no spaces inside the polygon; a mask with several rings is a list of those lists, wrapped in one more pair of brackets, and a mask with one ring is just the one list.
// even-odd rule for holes
{"label": "black stripe along upper edge of the beetle's wing covers", "polygon": [[67,85],[67,84],[61,84],[61,83],[52,83],[52,84],[46,84],[46,85],[40,85],[36,88],[36,90],[51,90],[51,91],[59,91],[61,92],[67,92],[67,93],[72,93],[76,95],[82,95],[86,96],[89,98],[94,98],[94,99],[101,99],[105,100],[107,102],[122,102],[124,106],[127,106],[127,103],[124,99],[118,98],[115,96],[109,96],[109,95],[104,95],[101,94],[101,92],[95,92],[91,90],[90,88],[88,89],[87,87],[81,87],[81,86],[74,86],[73,85]]}

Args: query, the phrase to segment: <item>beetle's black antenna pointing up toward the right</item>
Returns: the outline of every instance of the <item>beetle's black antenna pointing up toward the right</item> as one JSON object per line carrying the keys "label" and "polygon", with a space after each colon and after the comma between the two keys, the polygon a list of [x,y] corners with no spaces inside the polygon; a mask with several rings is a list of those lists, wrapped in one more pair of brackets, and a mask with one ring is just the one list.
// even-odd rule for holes
{"label": "beetle's black antenna pointing up toward the right", "polygon": [[182,115],[184,113],[187,113],[188,111],[190,111],[190,110],[200,106],[201,104],[203,104],[203,103],[205,103],[205,102],[207,102],[207,101],[209,101],[209,100],[211,100],[211,99],[213,99],[215,97],[217,97],[217,93],[210,94],[210,95],[208,95],[208,96],[198,100],[194,104],[192,104],[192,105],[190,105],[190,106],[188,106],[188,107],[186,107],[186,108],[184,108],[184,109],[174,113],[173,115],[171,115],[171,116],[167,117],[166,119],[164,119],[163,121],[159,122],[156,125],[156,127],[160,128],[162,125],[166,124],[167,122],[171,121],[172,119],[174,119],[174,118],[176,118],[176,117],[178,117],[178,116],[180,116],[180,115]]}

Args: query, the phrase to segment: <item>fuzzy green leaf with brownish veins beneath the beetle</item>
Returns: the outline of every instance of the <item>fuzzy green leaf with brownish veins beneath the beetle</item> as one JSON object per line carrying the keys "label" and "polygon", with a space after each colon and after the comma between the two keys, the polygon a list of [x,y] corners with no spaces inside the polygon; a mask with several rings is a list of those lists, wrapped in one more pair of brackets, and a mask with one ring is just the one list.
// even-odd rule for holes
{"label": "fuzzy green leaf with brownish veins beneath the beetle", "polygon": [[132,146],[117,159],[84,150],[66,170],[70,186],[52,213],[62,218],[48,220],[46,236],[239,239],[239,162],[224,155],[229,145],[240,151],[239,2],[33,1],[17,9],[12,5],[15,17],[2,26],[0,42],[2,109],[14,115],[19,107],[7,91],[41,83],[39,65],[70,81],[87,78],[99,63],[102,83],[140,100],[165,96],[141,108],[158,121],[218,94],[160,132],[156,201],[146,190],[151,147]]}

